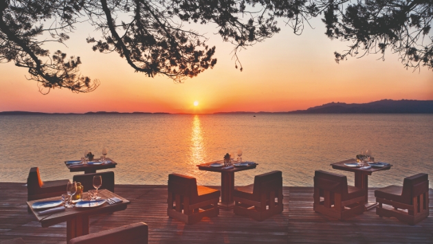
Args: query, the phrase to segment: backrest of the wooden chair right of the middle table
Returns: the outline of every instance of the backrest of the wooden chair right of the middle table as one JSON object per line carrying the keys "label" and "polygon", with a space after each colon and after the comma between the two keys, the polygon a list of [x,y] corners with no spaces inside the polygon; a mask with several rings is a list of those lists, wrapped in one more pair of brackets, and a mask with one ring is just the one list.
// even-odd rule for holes
{"label": "backrest of the wooden chair right of the middle table", "polygon": [[260,197],[261,194],[274,191],[278,195],[278,190],[282,188],[282,172],[279,170],[271,171],[254,177],[253,195]]}

